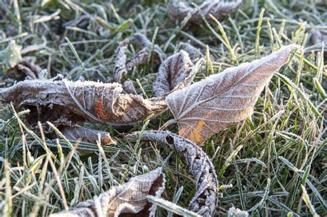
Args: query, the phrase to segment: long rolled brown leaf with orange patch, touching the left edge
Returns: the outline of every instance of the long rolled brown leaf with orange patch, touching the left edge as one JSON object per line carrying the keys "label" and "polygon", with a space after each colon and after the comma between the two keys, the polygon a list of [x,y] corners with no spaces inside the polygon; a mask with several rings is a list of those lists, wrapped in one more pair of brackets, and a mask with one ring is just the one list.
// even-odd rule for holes
{"label": "long rolled brown leaf with orange patch, touching the left edge", "polygon": [[156,98],[122,94],[118,83],[94,81],[21,81],[0,89],[1,103],[14,103],[17,110],[30,109],[30,123],[50,121],[72,125],[77,121],[131,125],[166,110]]}

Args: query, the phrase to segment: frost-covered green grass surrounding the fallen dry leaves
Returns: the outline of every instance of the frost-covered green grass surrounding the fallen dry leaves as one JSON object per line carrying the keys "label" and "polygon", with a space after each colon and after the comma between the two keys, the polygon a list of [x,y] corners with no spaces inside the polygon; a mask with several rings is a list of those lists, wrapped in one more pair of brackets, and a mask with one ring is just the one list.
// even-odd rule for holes
{"label": "frost-covered green grass surrounding the fallen dry leaves", "polygon": [[[44,6],[47,1],[28,2],[0,2],[0,50],[11,40],[23,48],[46,40],[45,46],[23,56],[37,56],[50,76],[60,73],[71,80],[95,71],[112,76],[117,42],[135,32],[146,34],[167,54],[181,41],[200,48],[208,67],[201,68],[196,80],[270,54],[281,45],[303,45],[304,52],[293,55],[261,93],[255,113],[212,136],[202,148],[212,158],[221,184],[217,216],[233,205],[252,216],[326,215],[327,67],[321,48],[310,44],[311,30],[327,30],[326,1],[245,0],[225,19],[204,21],[201,27],[172,23],[161,1],[52,0]],[[130,46],[128,56],[137,51]],[[153,96],[157,69],[152,63],[128,74],[144,97]],[[7,64],[0,62],[2,87],[14,82],[6,75]],[[47,216],[163,164],[164,199],[188,207],[195,179],[183,158],[163,144],[128,143],[120,136],[142,127],[157,130],[172,118],[169,112],[146,125],[81,123],[106,130],[118,141],[101,148],[80,143],[81,151],[65,138],[43,137],[26,123],[26,116],[10,105],[0,107],[3,216]],[[177,132],[177,125],[168,130]],[[164,208],[157,211],[158,216],[167,214]]]}

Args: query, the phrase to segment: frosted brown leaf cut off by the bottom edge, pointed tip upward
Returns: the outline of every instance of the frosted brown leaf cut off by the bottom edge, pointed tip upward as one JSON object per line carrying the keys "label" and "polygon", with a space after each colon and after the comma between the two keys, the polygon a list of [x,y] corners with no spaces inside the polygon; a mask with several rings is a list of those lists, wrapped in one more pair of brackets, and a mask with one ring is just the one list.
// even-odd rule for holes
{"label": "frosted brown leaf cut off by the bottom edge, pointed tip upward", "polygon": [[161,167],[148,174],[135,176],[128,183],[111,187],[107,192],[92,200],[81,202],[69,211],[61,211],[59,216],[155,216],[155,205],[146,199],[151,195],[159,198],[165,189],[166,178]]}

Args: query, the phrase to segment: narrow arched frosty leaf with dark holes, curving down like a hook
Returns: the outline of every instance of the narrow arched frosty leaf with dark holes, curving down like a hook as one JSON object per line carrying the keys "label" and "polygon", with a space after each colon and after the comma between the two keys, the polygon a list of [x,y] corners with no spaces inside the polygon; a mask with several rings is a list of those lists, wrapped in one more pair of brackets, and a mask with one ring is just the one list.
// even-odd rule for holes
{"label": "narrow arched frosty leaf with dark holes, curving down like a hook", "polygon": [[[126,135],[126,138],[137,141],[139,135],[139,132],[135,132]],[[202,210],[204,212],[201,214],[204,216],[213,216],[217,207],[218,180],[215,167],[201,147],[186,138],[165,131],[145,131],[141,134],[141,140],[166,143],[186,158],[190,172],[197,181],[197,192],[190,201],[189,209],[195,212]]]}

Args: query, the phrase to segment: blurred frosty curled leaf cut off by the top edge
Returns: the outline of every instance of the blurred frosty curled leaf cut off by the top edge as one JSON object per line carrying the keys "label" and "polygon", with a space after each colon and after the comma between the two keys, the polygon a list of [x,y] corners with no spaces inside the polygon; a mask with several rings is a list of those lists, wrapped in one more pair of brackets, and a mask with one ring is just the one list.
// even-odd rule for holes
{"label": "blurred frosty curled leaf cut off by the top edge", "polygon": [[241,0],[204,0],[199,7],[192,8],[186,0],[170,0],[168,3],[168,17],[172,21],[181,22],[190,14],[189,22],[200,24],[202,21],[200,11],[206,19],[210,19],[209,14],[212,14],[216,19],[220,19],[233,12],[240,3]]}

